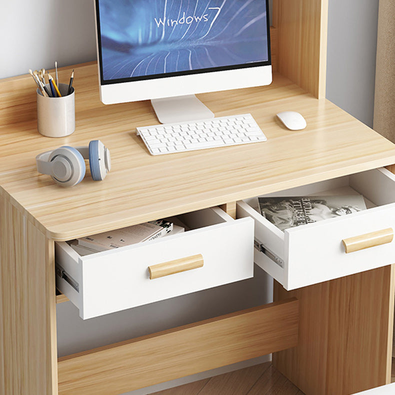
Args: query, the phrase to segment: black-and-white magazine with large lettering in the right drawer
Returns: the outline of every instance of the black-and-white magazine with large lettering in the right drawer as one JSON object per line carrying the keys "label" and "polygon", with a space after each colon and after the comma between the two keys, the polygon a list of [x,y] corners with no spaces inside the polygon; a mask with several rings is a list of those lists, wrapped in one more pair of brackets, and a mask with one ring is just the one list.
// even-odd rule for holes
{"label": "black-and-white magazine with large lettering in the right drawer", "polygon": [[366,208],[362,195],[258,197],[260,213],[281,230]]}

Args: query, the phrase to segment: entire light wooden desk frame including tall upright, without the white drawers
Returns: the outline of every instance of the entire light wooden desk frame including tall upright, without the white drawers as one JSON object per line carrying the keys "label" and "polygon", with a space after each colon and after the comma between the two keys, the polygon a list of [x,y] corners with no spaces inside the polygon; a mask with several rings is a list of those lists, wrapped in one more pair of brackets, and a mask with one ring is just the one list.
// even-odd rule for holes
{"label": "entire light wooden desk frame including tall upright, without the white drawers", "polygon": [[[391,266],[292,291],[298,301],[278,286],[274,304],[57,361],[55,240],[214,205],[234,213],[239,199],[395,163],[395,145],[322,98],[326,15],[327,0],[275,0],[272,53],[280,73],[273,83],[199,95],[217,116],[252,113],[264,143],[150,156],[134,133],[137,125],[157,123],[150,104],[101,104],[94,63],[75,66],[76,131],[51,139],[36,130],[31,77],[0,81],[1,395],[53,395],[58,388],[61,394],[122,393],[296,343],[274,361],[306,395],[346,394],[389,380]],[[70,69],[60,69],[59,79],[67,80]],[[288,109],[305,116],[306,129],[281,126],[274,114]],[[63,189],[37,173],[36,154],[91,139],[111,151],[104,181],[87,175]],[[195,348],[188,333],[203,333]],[[212,333],[221,334],[221,349],[234,349],[209,363]],[[270,333],[276,335],[263,335]],[[144,356],[151,340],[157,351]],[[120,365],[108,366],[114,359]]]}

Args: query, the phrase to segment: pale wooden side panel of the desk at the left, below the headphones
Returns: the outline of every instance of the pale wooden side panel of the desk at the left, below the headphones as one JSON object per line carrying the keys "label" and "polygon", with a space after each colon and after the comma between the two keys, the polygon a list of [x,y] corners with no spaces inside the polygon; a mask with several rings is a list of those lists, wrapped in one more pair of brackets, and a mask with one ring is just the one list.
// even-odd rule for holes
{"label": "pale wooden side panel of the desk at the left, below the headphones", "polygon": [[55,395],[53,241],[0,193],[0,395]]}

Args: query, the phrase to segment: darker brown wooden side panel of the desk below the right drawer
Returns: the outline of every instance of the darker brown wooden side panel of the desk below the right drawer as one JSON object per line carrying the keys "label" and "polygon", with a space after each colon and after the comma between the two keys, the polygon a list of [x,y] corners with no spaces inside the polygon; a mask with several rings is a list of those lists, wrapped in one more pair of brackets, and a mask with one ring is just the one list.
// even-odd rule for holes
{"label": "darker brown wooden side panel of the desk below the right drawer", "polygon": [[287,292],[299,299],[299,340],[273,364],[306,395],[346,395],[390,382],[394,265]]}

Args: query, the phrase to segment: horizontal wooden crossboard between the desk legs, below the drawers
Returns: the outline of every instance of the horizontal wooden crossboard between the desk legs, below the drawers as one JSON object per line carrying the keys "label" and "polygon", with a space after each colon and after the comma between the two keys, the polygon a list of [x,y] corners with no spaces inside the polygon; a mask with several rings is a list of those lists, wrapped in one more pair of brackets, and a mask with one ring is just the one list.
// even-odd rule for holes
{"label": "horizontal wooden crossboard between the desk legs, below the drawers", "polygon": [[106,395],[297,345],[298,300],[222,315],[58,359],[59,395]]}

